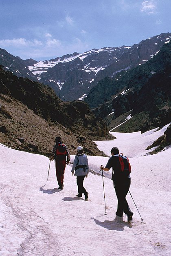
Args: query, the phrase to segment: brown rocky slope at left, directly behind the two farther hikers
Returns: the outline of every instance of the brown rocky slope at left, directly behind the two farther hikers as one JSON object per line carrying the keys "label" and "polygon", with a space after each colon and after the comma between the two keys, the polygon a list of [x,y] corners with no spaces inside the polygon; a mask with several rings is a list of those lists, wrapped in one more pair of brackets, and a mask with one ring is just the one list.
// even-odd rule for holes
{"label": "brown rocky slope at left, directly behind the two farther hikers", "polygon": [[82,145],[89,155],[104,155],[92,140],[113,139],[86,103],[62,102],[49,87],[17,78],[1,66],[0,142],[49,156],[58,135],[70,154]]}

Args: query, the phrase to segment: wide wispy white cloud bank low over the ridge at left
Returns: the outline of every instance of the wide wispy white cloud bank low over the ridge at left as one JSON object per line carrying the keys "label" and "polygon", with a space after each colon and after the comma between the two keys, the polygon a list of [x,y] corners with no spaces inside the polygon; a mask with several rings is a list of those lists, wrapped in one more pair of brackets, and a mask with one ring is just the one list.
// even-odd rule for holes
{"label": "wide wispy white cloud bank low over the ridge at left", "polygon": [[22,59],[35,58],[37,60],[40,60],[43,56],[50,59],[76,51],[82,53],[90,48],[86,42],[79,38],[72,38],[69,43],[66,43],[57,38],[52,38],[48,33],[46,33],[46,39],[42,38],[41,41],[37,39],[27,40],[26,38],[0,40],[0,47]]}

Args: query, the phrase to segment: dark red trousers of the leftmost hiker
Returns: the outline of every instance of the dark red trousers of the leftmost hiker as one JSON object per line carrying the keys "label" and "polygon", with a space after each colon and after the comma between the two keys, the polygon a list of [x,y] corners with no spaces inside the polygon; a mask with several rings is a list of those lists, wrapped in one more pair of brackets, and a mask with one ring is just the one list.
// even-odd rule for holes
{"label": "dark red trousers of the leftmost hiker", "polygon": [[55,161],[56,176],[59,187],[64,186],[64,173],[66,167],[66,159],[57,158]]}

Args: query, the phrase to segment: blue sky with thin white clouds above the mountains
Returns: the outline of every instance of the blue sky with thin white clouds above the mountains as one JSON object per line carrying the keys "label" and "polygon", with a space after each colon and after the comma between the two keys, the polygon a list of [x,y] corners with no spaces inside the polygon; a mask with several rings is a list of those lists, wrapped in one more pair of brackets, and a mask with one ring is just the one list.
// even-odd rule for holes
{"label": "blue sky with thin white clouds above the mountains", "polygon": [[171,0],[0,0],[0,48],[49,60],[171,32]]}

